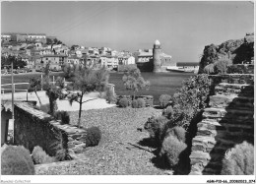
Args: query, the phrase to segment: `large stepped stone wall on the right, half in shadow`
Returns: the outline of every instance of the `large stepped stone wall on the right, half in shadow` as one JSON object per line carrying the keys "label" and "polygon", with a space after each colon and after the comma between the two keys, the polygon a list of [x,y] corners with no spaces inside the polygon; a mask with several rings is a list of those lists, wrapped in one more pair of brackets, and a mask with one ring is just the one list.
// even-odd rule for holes
{"label": "large stepped stone wall on the right, half in shadow", "polygon": [[190,174],[221,174],[224,153],[247,141],[254,145],[252,74],[211,76],[217,83],[192,140]]}

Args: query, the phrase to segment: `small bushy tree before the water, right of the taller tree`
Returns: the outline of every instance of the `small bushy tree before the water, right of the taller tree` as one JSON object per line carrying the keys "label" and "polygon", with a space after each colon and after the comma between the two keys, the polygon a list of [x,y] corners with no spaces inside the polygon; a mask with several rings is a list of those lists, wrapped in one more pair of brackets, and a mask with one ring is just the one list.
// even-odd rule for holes
{"label": "small bushy tree before the water, right of the taller tree", "polygon": [[149,90],[150,88],[150,82],[144,80],[141,76],[141,71],[136,66],[126,66],[123,84],[126,90],[133,91],[133,99],[135,99],[135,92],[143,89]]}

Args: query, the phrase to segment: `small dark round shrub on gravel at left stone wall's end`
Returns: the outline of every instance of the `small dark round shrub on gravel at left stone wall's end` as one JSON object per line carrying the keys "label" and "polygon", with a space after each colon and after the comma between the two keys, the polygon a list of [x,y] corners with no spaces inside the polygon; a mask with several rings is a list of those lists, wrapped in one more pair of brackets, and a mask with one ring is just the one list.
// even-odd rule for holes
{"label": "small dark round shrub on gravel at left stone wall's end", "polygon": [[98,127],[91,127],[87,129],[87,147],[94,147],[98,145],[101,138],[101,132]]}

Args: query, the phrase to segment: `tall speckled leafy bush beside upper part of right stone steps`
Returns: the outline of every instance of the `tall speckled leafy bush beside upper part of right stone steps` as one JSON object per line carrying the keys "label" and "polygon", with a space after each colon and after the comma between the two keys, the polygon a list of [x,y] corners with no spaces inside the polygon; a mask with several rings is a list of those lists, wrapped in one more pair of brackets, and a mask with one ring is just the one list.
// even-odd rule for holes
{"label": "tall speckled leafy bush beside upper part of right stone steps", "polygon": [[211,81],[208,75],[196,75],[184,81],[173,94],[175,124],[188,128],[191,120],[207,105]]}

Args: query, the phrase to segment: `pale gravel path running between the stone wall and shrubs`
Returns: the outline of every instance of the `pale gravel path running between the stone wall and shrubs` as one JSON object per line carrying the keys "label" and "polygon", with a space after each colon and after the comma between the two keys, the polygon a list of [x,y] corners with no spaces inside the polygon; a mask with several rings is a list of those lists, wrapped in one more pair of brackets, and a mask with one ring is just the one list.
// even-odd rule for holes
{"label": "pale gravel path running between the stone wall and shrubs", "polygon": [[[160,110],[152,107],[111,107],[83,111],[82,125],[87,128],[98,126],[102,138],[98,146],[87,148],[85,151],[88,163],[80,170],[80,174],[165,174],[164,170],[156,167],[151,161],[155,157],[155,154],[151,153],[154,149],[138,144],[149,135],[147,132],[138,131],[137,128],[143,128],[148,118],[157,114],[160,114]],[[75,124],[77,119],[78,111],[71,112],[72,124]]]}

